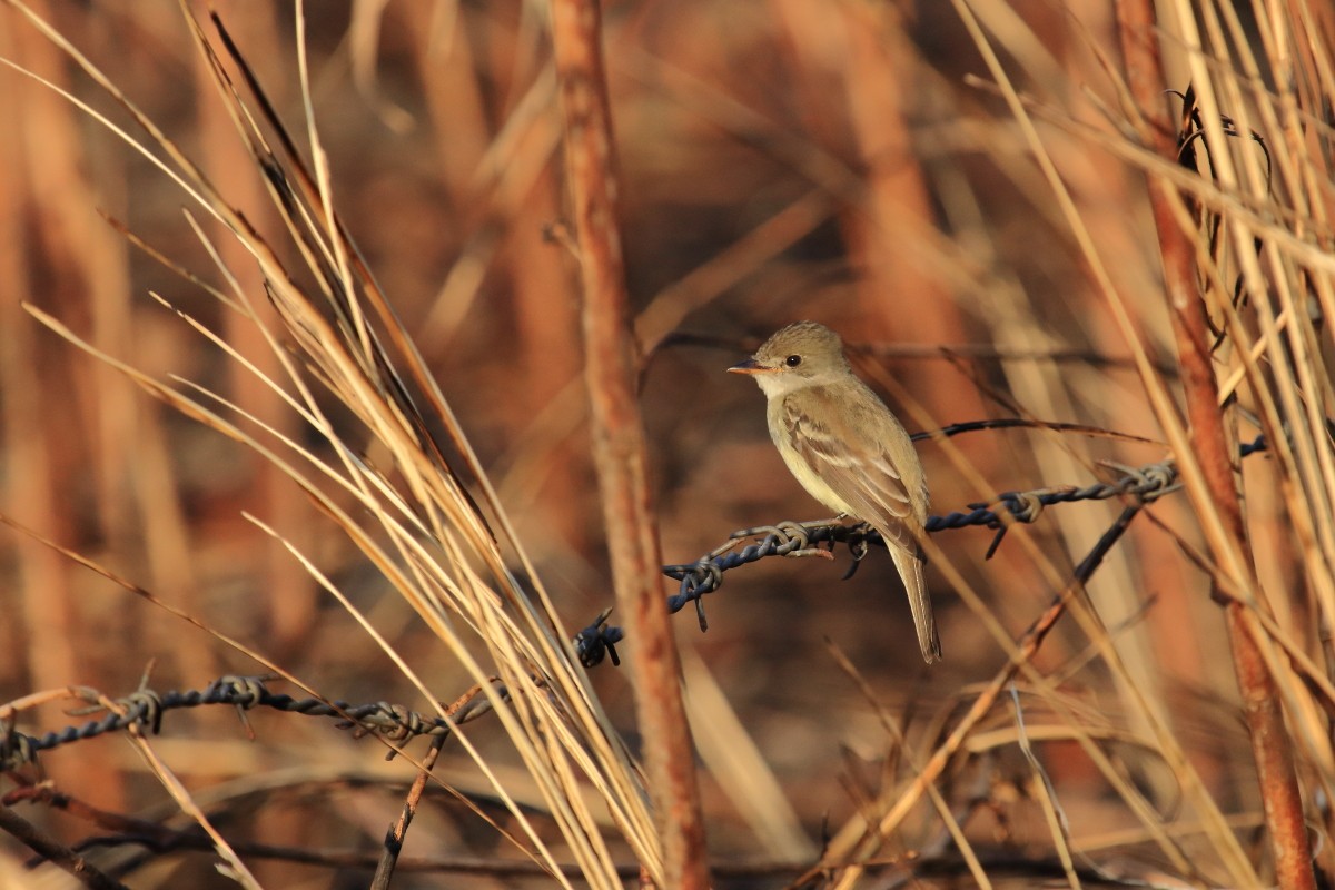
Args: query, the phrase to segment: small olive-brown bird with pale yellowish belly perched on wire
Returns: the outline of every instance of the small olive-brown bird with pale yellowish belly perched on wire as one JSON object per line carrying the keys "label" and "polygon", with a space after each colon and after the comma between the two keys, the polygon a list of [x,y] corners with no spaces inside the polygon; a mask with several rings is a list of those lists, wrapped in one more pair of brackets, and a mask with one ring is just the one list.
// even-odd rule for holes
{"label": "small olive-brown bird with pale yellowish belly perched on wire", "polygon": [[806,492],[881,532],[909,595],[922,658],[939,659],[918,543],[928,510],[922,462],[904,424],[853,374],[838,334],[797,322],[728,370],[756,378],[769,403],[769,435]]}

